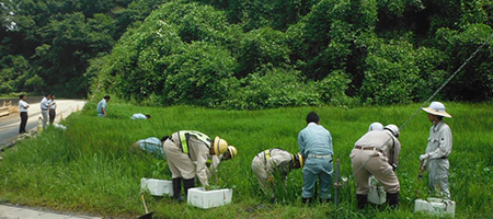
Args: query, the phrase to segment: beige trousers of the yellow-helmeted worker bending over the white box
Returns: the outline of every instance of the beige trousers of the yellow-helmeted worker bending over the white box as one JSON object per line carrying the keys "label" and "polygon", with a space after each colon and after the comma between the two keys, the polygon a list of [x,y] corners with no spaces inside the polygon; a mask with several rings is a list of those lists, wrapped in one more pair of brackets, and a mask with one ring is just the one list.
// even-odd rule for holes
{"label": "beige trousers of the yellow-helmeted worker bending over the white box", "polygon": [[190,180],[195,177],[195,164],[179,146],[168,139],[164,141],[163,148],[173,178]]}

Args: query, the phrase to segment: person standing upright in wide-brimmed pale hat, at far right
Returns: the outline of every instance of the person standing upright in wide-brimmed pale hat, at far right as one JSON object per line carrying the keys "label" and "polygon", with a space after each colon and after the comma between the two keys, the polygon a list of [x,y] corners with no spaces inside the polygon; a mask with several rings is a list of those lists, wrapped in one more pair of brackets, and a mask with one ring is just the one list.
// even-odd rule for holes
{"label": "person standing upright in wide-brimmed pale hat, at far right", "polygon": [[428,107],[422,108],[428,113],[428,120],[433,123],[429,129],[426,153],[420,155],[423,169],[428,170],[428,185],[431,192],[438,191],[445,199],[450,199],[448,186],[448,172],[450,163],[448,157],[452,148],[452,135],[450,127],[444,122],[444,117],[451,118],[440,102],[432,102]]}

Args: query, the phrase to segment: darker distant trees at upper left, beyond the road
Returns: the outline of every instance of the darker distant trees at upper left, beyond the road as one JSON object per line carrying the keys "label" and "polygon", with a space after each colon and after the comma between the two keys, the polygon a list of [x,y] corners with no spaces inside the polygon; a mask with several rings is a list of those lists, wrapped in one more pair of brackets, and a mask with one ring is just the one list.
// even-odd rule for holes
{"label": "darker distant trees at upper left, beyond the road", "polygon": [[0,93],[82,97],[90,62],[161,0],[0,0]]}

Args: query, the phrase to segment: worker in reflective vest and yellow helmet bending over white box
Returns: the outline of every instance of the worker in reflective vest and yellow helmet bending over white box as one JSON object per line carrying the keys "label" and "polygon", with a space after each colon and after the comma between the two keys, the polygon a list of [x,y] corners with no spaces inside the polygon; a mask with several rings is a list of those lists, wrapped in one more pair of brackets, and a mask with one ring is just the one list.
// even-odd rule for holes
{"label": "worker in reflective vest and yellow helmet bending over white box", "polygon": [[188,188],[195,186],[195,175],[207,188],[207,155],[225,153],[228,142],[219,137],[213,141],[196,130],[180,130],[164,141],[163,148],[173,177],[173,198],[182,201],[182,180],[185,195],[188,194]]}

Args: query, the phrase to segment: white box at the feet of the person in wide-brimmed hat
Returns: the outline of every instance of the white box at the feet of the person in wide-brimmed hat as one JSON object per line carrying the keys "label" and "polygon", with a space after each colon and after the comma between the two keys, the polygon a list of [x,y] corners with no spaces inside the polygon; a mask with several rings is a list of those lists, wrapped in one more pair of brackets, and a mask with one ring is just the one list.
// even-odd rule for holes
{"label": "white box at the feet of the person in wide-brimmed hat", "polygon": [[443,200],[440,198],[428,198],[427,201],[416,199],[414,201],[414,212],[416,211],[427,211],[440,216],[448,214],[454,217],[456,214],[456,203],[452,200]]}

